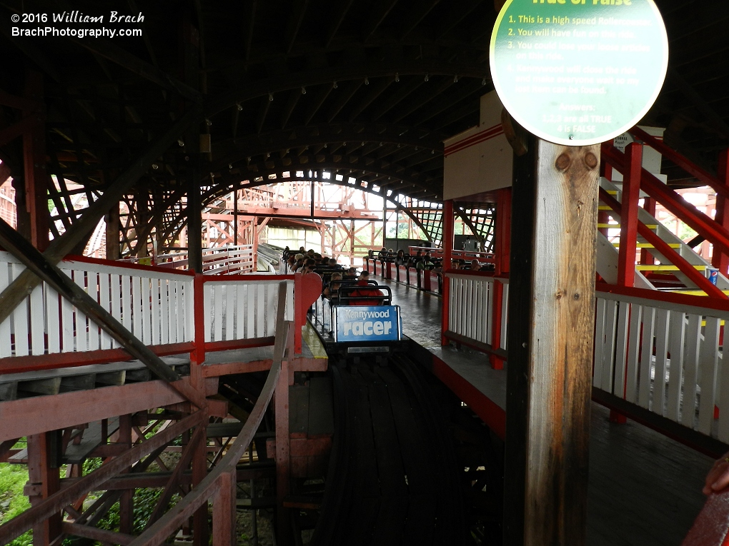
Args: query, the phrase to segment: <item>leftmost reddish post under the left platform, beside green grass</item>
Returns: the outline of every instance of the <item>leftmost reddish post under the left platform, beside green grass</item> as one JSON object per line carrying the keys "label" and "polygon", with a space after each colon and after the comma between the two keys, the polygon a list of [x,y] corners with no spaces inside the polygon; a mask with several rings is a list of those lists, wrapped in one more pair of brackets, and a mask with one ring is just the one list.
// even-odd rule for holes
{"label": "leftmost reddish post under the left platform, beside green grass", "polygon": [[[35,506],[61,489],[58,475],[60,454],[58,454],[58,431],[42,432],[28,436],[28,483],[39,485],[40,494],[28,499]],[[61,513],[41,520],[33,526],[33,544],[47,546],[61,534]]]}

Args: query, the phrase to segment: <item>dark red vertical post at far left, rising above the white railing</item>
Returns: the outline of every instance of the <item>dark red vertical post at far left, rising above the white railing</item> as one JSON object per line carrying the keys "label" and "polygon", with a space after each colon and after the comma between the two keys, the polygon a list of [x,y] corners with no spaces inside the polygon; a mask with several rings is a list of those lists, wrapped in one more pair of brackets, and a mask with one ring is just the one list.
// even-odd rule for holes
{"label": "dark red vertical post at far left, rising above the white railing", "polygon": [[[43,103],[43,75],[26,74],[26,97]],[[31,242],[41,252],[48,247],[48,176],[45,170],[45,115],[23,111],[23,116],[37,116],[33,129],[23,133],[23,164],[26,175],[26,209],[31,220]],[[80,159],[79,159],[80,160]]]}

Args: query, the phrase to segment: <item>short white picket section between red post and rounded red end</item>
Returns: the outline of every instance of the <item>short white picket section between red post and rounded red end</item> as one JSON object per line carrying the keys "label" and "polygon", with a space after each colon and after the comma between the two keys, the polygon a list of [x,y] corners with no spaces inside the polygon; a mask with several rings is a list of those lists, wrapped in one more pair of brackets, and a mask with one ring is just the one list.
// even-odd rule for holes
{"label": "short white picket section between red post and rounded red end", "polygon": [[[205,298],[205,341],[231,341],[273,336],[276,332],[278,284],[270,275],[230,279],[208,278]],[[286,281],[285,320],[294,320],[294,280]]]}

